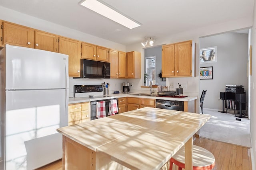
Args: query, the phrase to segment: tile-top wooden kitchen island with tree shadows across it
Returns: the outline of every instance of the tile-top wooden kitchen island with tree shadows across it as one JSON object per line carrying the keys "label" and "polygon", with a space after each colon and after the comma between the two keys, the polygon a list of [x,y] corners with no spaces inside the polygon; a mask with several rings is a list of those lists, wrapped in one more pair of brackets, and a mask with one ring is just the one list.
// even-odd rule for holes
{"label": "tile-top wooden kitchen island with tree shadows across it", "polygon": [[57,129],[63,135],[63,169],[159,170],[185,145],[192,170],[192,137],[210,119],[183,111],[144,107]]}

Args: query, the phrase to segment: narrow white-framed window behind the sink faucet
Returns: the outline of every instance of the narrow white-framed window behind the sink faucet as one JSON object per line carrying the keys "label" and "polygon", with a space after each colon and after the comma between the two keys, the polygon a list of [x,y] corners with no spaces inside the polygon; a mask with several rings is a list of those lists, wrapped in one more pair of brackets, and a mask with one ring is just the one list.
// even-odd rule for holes
{"label": "narrow white-framed window behind the sink faucet", "polygon": [[146,73],[148,78],[146,79],[146,86],[149,86],[149,82],[152,84],[156,82],[156,56],[146,57]]}

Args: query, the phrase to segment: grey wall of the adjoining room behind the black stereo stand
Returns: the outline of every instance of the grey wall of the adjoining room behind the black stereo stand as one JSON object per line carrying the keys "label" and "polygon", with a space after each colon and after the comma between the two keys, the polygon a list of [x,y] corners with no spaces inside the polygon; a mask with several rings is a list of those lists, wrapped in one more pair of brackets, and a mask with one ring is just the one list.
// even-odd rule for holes
{"label": "grey wall of the adjoining room behind the black stereo stand", "polygon": [[200,92],[207,90],[204,108],[222,110],[219,92],[225,92],[226,84],[243,85],[248,96],[248,34],[224,33],[200,39],[200,48],[213,46],[217,47],[217,62],[200,64],[213,66],[213,79],[200,80]]}

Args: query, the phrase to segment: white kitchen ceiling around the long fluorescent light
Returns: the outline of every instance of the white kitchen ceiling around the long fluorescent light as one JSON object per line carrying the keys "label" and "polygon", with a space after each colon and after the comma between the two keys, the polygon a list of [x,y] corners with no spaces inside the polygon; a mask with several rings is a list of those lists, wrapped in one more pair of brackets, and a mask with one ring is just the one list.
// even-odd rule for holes
{"label": "white kitchen ceiling around the long fluorescent light", "polygon": [[103,0],[142,23],[128,29],[80,5],[81,0],[0,0],[0,6],[123,45],[252,17],[254,0]]}

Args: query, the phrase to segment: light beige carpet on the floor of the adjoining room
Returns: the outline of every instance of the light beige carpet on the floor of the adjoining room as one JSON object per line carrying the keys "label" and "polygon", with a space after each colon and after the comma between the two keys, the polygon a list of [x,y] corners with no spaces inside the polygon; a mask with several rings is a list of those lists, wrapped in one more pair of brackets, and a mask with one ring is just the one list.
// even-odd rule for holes
{"label": "light beige carpet on the floor of the adjoining room", "polygon": [[212,115],[209,121],[200,129],[200,137],[232,143],[243,147],[251,147],[250,120],[237,117],[231,113],[220,113],[216,109],[205,109],[204,114]]}

